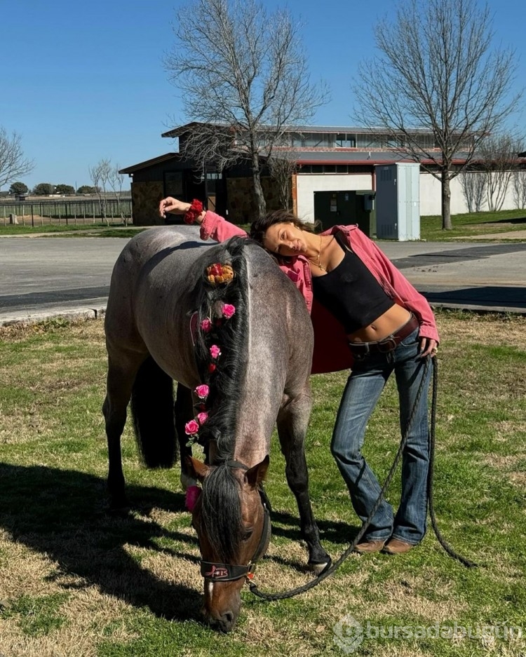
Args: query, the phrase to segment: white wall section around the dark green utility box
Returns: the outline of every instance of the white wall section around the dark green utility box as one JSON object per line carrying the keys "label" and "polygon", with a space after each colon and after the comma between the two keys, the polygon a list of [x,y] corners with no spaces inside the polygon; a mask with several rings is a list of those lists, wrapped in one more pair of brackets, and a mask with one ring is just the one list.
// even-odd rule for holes
{"label": "white wall section around the dark green utility box", "polygon": [[307,223],[314,222],[315,191],[357,191],[373,189],[372,175],[368,173],[299,174],[297,181],[297,216]]}

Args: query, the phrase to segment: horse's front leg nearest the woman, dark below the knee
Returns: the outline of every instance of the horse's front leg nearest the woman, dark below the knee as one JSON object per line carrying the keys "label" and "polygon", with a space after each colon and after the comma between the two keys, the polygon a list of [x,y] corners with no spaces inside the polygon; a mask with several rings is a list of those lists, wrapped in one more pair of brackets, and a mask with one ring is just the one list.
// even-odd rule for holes
{"label": "horse's front leg nearest the woman, dark below the knee", "polygon": [[304,391],[292,399],[285,398],[284,402],[278,413],[277,425],[281,452],[285,456],[285,475],[297,501],[302,537],[309,548],[309,567],[321,572],[330,564],[330,556],[321,546],[309,498],[304,440],[311,414],[310,391]]}

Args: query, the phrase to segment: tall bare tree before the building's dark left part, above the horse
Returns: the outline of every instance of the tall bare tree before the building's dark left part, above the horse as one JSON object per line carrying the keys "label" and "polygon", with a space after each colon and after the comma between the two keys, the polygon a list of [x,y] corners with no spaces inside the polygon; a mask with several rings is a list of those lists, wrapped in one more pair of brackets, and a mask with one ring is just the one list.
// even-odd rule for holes
{"label": "tall bare tree before the building's dark left part, above the horse", "polygon": [[255,0],[194,0],[177,12],[174,32],[164,64],[196,121],[180,151],[201,170],[247,161],[263,215],[260,156],[328,100],[323,84],[309,80],[299,25]]}

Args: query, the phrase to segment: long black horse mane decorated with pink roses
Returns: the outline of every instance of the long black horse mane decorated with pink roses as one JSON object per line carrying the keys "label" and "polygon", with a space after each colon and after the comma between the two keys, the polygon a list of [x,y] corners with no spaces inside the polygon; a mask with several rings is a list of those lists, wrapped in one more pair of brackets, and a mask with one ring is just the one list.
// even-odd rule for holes
{"label": "long black horse mane decorated with pink roses", "polygon": [[[197,411],[208,414],[199,429],[199,442],[216,441],[217,461],[229,459],[234,451],[238,398],[247,370],[249,303],[244,250],[249,242],[248,238],[234,237],[211,250],[198,285],[195,355],[201,383],[209,388],[208,398],[197,405]],[[234,278],[218,283],[210,277],[210,267],[218,264],[230,266]],[[224,313],[225,304],[234,306],[234,314]],[[201,328],[205,320],[207,330]],[[221,352],[217,358],[210,350],[214,346]]]}

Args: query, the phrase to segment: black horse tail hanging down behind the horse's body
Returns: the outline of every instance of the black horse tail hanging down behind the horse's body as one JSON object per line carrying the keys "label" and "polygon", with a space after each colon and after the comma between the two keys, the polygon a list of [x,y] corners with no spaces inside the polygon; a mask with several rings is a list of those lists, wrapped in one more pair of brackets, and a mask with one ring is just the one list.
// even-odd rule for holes
{"label": "black horse tail hanging down behind the horse's body", "polygon": [[177,457],[173,380],[148,356],[133,383],[135,441],[148,468],[171,468]]}

